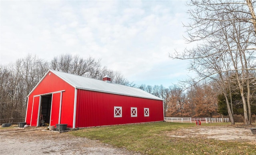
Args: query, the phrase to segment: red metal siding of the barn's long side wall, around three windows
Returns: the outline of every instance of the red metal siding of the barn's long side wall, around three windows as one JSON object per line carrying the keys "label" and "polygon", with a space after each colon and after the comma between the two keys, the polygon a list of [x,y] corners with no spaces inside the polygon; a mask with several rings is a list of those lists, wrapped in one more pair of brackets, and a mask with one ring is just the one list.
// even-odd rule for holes
{"label": "red metal siding of the barn's long side wall, around three windows", "polygon": [[[114,117],[114,106],[122,107],[122,117]],[[137,107],[137,117],[131,117],[131,107]],[[145,107],[149,108],[149,117],[144,117]],[[163,120],[162,101],[96,91],[78,90],[76,127]]]}

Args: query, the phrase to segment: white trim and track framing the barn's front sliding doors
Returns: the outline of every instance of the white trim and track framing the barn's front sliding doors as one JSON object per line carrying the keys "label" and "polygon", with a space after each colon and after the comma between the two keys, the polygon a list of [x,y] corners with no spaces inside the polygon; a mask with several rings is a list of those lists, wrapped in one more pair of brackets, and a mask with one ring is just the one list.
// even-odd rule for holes
{"label": "white trim and track framing the barn's front sliding doors", "polygon": [[[50,93],[43,93],[43,94],[40,94],[40,95],[34,95],[33,96],[33,104],[32,104],[32,114],[31,114],[31,119],[30,119],[30,125],[32,123],[32,116],[33,116],[33,109],[34,109],[34,98],[35,97],[40,97],[39,98],[39,104],[38,104],[38,113],[37,113],[37,123],[36,123],[36,126],[38,127],[40,125],[40,122],[39,122],[39,117],[40,117],[40,110],[41,110],[41,105],[42,105],[42,96],[43,95],[52,95],[54,93],[60,93],[60,109],[59,109],[59,119],[58,119],[58,122],[60,123],[60,112],[61,112],[61,103],[62,103],[62,92],[65,91],[65,90],[60,90],[60,91],[54,91],[54,92],[50,92]],[[53,96],[53,95],[52,95]],[[34,113],[35,114],[35,113]],[[51,117],[52,117],[52,101],[51,101],[51,113],[50,113],[50,120],[51,120]]]}

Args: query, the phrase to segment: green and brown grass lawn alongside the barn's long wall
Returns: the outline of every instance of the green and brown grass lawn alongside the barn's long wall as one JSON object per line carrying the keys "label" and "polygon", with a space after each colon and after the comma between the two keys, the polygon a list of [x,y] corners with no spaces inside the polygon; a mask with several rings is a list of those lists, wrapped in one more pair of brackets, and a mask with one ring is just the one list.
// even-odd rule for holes
{"label": "green and brown grass lawn alongside the barn's long wall", "polygon": [[[202,126],[227,126],[227,123],[210,123]],[[256,146],[239,141],[221,141],[200,137],[170,137],[166,133],[194,127],[194,123],[142,123],[92,127],[70,132],[70,134],[96,139],[115,147],[125,147],[142,154],[256,154]]]}

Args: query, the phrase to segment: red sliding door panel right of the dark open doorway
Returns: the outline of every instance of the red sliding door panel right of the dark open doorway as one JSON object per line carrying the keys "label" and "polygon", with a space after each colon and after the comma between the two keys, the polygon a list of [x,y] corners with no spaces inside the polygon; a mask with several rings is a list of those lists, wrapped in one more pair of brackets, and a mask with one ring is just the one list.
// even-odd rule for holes
{"label": "red sliding door panel right of the dark open doorway", "polygon": [[59,111],[60,111],[60,93],[52,94],[52,111],[51,111],[51,121],[50,125],[54,125],[59,123]]}

